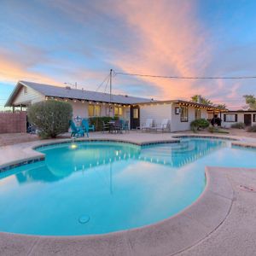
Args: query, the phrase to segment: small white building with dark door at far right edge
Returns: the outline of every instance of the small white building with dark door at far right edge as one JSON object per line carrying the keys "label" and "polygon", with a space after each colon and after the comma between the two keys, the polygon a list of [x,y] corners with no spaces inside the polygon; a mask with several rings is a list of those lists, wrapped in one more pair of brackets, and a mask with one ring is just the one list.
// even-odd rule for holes
{"label": "small white building with dark door at far right edge", "polygon": [[256,110],[237,110],[223,113],[222,126],[230,128],[236,123],[243,123],[246,126],[256,125]]}

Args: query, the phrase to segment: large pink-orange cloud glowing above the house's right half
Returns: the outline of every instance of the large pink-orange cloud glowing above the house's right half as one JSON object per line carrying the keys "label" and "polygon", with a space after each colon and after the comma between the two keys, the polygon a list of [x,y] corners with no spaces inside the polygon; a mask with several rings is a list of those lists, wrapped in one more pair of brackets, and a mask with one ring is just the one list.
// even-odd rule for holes
{"label": "large pink-orange cloud glowing above the house's right half", "polygon": [[[113,63],[127,73],[201,75],[207,65],[206,34],[195,18],[195,2],[122,1],[115,11],[139,35],[132,52]],[[132,44],[132,38],[130,38]],[[204,92],[193,80],[142,78],[160,87],[161,98],[188,98]]]}

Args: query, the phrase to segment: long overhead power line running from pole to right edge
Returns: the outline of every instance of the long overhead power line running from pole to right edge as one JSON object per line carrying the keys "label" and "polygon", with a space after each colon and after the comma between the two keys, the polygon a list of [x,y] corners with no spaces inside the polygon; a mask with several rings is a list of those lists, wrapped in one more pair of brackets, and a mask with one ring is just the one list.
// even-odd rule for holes
{"label": "long overhead power line running from pole to right edge", "polygon": [[180,76],[161,76],[141,73],[122,73],[114,72],[114,75],[136,76],[136,77],[149,77],[158,79],[256,79],[256,76],[241,76],[241,77],[180,77]]}

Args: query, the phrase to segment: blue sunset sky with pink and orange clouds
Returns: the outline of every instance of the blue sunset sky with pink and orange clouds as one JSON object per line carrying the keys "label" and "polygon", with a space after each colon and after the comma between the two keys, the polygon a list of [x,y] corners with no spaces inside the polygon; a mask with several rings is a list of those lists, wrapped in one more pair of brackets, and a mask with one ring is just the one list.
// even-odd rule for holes
{"label": "blue sunset sky with pink and orange clouds", "polygon": [[[0,0],[0,108],[22,79],[96,90],[110,68],[255,76],[255,10],[254,0]],[[113,93],[159,100],[201,94],[237,109],[243,95],[256,95],[256,79],[116,76]]]}

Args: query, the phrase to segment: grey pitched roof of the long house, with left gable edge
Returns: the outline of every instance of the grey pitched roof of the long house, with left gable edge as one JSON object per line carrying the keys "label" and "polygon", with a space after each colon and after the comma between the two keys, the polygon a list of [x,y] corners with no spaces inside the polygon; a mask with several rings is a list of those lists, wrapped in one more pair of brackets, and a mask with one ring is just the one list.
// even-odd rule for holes
{"label": "grey pitched roof of the long house, with left gable edge", "polygon": [[[44,96],[53,96],[53,97],[60,97],[60,98],[70,98],[70,99],[77,99],[77,100],[87,100],[87,101],[94,101],[94,102],[109,102],[110,96],[108,93],[91,91],[91,90],[79,90],[73,89],[70,87],[60,87],[54,86],[50,84],[38,84],[33,82],[27,81],[19,81],[15,90],[13,91],[12,95],[9,97],[8,102],[6,102],[7,107],[11,106],[11,102],[15,98],[20,86],[25,85],[33,90],[37,90]],[[123,95],[112,95],[112,101],[114,103],[119,104],[135,104],[137,102],[152,102],[151,99],[141,98],[141,97],[134,97],[134,96],[123,96]]]}

